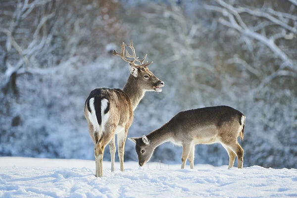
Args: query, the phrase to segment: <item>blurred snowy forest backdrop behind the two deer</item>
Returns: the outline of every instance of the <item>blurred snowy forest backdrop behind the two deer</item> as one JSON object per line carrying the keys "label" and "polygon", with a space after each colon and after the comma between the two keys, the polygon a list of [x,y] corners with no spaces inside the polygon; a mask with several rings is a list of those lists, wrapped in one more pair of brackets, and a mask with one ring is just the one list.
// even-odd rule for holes
{"label": "blurred snowy forest backdrop behind the two deer", "polygon": [[[0,156],[94,159],[84,103],[123,88],[129,65],[112,50],[131,40],[165,86],[141,100],[128,138],[229,105],[247,117],[244,167],[297,168],[297,0],[1,0]],[[181,153],[165,143],[150,161]],[[134,143],[124,157],[138,160]],[[228,160],[220,144],[196,146],[195,163]]]}

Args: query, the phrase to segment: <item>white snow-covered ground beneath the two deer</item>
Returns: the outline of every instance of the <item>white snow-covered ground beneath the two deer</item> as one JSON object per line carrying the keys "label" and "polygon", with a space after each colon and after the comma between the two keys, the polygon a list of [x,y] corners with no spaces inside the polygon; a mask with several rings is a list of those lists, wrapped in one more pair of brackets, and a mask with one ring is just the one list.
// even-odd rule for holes
{"label": "white snow-covered ground beneath the two deer", "polygon": [[95,177],[95,161],[0,157],[1,198],[297,197],[297,169],[125,162]]}

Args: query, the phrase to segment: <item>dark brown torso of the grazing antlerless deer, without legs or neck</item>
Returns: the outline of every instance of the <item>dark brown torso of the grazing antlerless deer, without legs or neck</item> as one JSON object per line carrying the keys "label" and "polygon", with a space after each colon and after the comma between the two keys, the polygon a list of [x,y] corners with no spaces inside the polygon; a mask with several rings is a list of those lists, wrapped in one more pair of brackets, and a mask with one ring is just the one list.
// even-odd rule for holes
{"label": "dark brown torso of the grazing antlerless deer, without legs or neck", "polygon": [[244,114],[230,106],[210,106],[181,111],[163,127],[179,142],[194,140],[200,144],[228,142],[238,137]]}

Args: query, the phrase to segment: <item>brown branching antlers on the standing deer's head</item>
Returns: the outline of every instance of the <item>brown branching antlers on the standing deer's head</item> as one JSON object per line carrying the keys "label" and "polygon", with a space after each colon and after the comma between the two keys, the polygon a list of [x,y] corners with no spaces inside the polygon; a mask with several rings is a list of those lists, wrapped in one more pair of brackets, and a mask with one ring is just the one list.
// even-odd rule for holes
{"label": "brown branching antlers on the standing deer's head", "polygon": [[[128,52],[128,50],[126,50],[126,55],[125,55],[125,46],[129,47],[132,50],[132,55],[130,55],[130,53]],[[135,53],[135,49],[133,47],[132,40],[131,40],[131,44],[130,45],[127,45],[124,42],[122,42],[121,43],[121,48],[122,48],[122,51],[120,53],[117,52],[116,50],[113,50],[113,55],[119,55],[119,56],[121,56],[121,58],[123,60],[125,60],[126,62],[130,62],[135,67],[147,67],[148,65],[150,65],[151,63],[153,63],[153,61],[151,61],[151,62],[148,62],[147,61],[147,62],[144,63],[144,61],[147,58],[147,55],[148,54],[146,54],[146,56],[143,59],[141,59],[141,60],[138,59],[138,57],[136,56],[136,53]],[[134,60],[130,60],[130,59],[126,58],[126,56],[129,57],[129,58],[134,58]],[[136,64],[135,61],[140,62],[140,64]]]}

